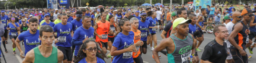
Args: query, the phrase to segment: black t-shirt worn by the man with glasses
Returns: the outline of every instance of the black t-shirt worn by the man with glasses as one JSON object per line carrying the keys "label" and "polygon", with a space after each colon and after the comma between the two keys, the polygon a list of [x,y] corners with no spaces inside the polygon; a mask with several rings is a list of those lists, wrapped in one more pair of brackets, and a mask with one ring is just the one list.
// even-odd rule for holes
{"label": "black t-shirt worn by the man with glasses", "polygon": [[201,59],[214,63],[224,63],[227,56],[227,43],[223,42],[222,46],[214,39],[204,47],[204,52]]}

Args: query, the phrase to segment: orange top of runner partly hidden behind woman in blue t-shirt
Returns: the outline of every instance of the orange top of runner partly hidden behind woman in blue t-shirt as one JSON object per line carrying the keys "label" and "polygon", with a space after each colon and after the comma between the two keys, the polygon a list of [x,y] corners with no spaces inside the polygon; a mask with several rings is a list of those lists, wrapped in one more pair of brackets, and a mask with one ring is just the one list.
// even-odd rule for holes
{"label": "orange top of runner partly hidden behind woman in blue t-shirt", "polygon": [[[134,32],[134,44],[137,43],[138,41],[141,41],[141,31],[140,30],[137,30],[137,32]],[[133,58],[137,58],[140,54],[141,54],[141,51],[140,51],[140,46],[136,46],[137,48],[137,55],[135,56],[135,52],[132,53],[132,57]]]}

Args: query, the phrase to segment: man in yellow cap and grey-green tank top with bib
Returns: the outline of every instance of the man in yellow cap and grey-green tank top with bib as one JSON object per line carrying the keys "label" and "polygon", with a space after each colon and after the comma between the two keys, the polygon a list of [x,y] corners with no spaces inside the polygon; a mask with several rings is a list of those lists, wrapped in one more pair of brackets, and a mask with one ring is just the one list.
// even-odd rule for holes
{"label": "man in yellow cap and grey-green tank top with bib", "polygon": [[170,37],[163,39],[159,45],[153,50],[153,56],[157,63],[160,63],[158,52],[166,49],[169,63],[190,63],[192,55],[193,62],[199,62],[198,56],[195,54],[195,42],[192,34],[189,34],[189,23],[191,19],[177,18],[173,22],[173,29],[176,33]]}

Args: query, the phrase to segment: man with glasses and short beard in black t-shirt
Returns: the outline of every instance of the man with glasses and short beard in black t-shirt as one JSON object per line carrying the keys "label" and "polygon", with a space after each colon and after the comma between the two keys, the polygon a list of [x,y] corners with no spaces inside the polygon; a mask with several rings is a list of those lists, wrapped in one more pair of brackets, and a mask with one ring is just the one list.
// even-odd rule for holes
{"label": "man with glasses and short beard in black t-shirt", "polygon": [[224,24],[219,24],[214,27],[213,33],[215,36],[215,40],[209,42],[204,47],[204,52],[201,57],[201,63],[224,63],[228,53],[227,53],[227,43],[225,40],[228,40],[228,29]]}

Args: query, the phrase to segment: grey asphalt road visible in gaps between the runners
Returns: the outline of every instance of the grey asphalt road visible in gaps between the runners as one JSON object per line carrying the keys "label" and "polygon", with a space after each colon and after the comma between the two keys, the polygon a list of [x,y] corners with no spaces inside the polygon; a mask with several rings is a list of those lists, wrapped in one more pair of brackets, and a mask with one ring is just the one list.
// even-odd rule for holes
{"label": "grey asphalt road visible in gaps between the runners", "polygon": [[[160,34],[161,33],[156,32],[157,44],[159,44],[160,41],[162,40],[162,37],[160,36]],[[208,44],[212,40],[214,40],[214,35],[213,34],[208,34],[208,33],[204,34],[204,41],[200,45],[200,48],[199,48],[202,52],[198,52],[198,55],[199,55],[200,59],[201,59],[202,53],[204,51],[204,46],[206,44]],[[9,39],[9,37],[8,37],[8,44],[6,44],[6,47],[7,47],[8,53],[4,53],[4,55],[5,55],[5,59],[6,59],[7,63],[20,63],[20,62],[22,62],[23,59],[19,56],[19,51],[18,51],[17,48],[16,48],[16,54],[15,55],[13,54],[13,52],[12,52],[12,42]],[[21,47],[22,47],[23,52],[25,52],[24,46],[21,46]],[[152,58],[152,51],[151,51],[151,49],[149,47],[150,46],[148,45],[147,46],[147,53],[146,54],[142,54],[143,62],[145,62],[145,63],[155,63],[155,60]],[[1,48],[4,50],[2,42],[1,42]],[[247,51],[248,55],[252,56],[252,58],[249,59],[249,63],[255,63],[254,61],[256,61],[256,55],[255,55],[256,50],[253,51],[254,55],[250,54],[248,49],[246,49],[246,51]],[[160,61],[161,62],[163,62],[163,63],[168,62],[167,56],[165,56],[162,53],[159,53],[159,54],[161,55],[161,57],[160,57]],[[111,59],[105,59],[105,60],[106,60],[107,63],[111,63]],[[1,62],[4,62],[3,57],[1,57]]]}

